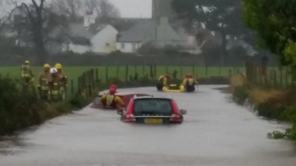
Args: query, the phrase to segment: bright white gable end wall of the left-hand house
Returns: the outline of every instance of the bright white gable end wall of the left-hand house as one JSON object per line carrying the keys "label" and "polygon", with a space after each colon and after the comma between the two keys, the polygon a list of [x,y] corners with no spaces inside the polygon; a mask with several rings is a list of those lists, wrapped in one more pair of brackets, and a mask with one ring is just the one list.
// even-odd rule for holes
{"label": "bright white gable end wall of the left-hand house", "polygon": [[115,42],[116,34],[118,34],[118,31],[115,28],[111,25],[106,26],[91,39],[93,51],[98,53],[105,52],[106,43],[111,44]]}

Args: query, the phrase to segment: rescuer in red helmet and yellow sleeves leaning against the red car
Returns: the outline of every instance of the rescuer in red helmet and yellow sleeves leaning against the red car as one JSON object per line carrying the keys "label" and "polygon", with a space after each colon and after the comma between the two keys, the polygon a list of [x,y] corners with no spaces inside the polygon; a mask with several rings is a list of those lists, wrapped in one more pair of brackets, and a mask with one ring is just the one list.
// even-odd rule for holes
{"label": "rescuer in red helmet and yellow sleeves leaning against the red car", "polygon": [[115,96],[116,90],[114,88],[109,89],[109,94],[103,95],[101,97],[101,103],[103,103],[104,108],[112,108],[116,109],[116,105],[118,104],[121,107],[124,107],[123,101],[119,96]]}

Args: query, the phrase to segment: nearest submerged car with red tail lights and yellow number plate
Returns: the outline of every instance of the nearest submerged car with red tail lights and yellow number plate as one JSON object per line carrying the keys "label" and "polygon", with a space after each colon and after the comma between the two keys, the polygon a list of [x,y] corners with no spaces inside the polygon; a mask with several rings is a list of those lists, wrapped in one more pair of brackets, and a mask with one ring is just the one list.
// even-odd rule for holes
{"label": "nearest submerged car with red tail lights and yellow number plate", "polygon": [[134,97],[124,110],[118,110],[124,122],[147,124],[182,123],[187,111],[179,111],[176,102],[168,97]]}

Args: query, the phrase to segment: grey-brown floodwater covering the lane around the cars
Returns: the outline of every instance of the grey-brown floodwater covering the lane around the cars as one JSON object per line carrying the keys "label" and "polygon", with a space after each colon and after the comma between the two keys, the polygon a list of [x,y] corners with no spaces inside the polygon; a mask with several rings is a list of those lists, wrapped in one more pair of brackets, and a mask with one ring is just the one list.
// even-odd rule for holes
{"label": "grey-brown floodwater covering the lane around the cars", "polygon": [[200,86],[198,93],[120,90],[170,95],[188,113],[183,124],[141,125],[121,122],[116,111],[85,108],[0,142],[9,143],[0,149],[0,165],[295,166],[294,143],[267,138],[288,125],[255,116],[218,87],[226,86]]}

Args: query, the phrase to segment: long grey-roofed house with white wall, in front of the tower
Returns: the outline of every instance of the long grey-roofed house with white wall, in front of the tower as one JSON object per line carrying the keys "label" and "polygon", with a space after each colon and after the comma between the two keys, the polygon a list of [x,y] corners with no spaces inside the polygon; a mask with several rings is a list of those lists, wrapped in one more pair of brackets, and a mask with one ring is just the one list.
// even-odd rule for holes
{"label": "long grey-roofed house with white wall, in front of the tower", "polygon": [[153,19],[140,20],[128,31],[118,35],[116,49],[122,52],[136,52],[143,44],[152,42],[157,47],[184,45],[184,41],[170,26],[167,17],[160,22]]}

